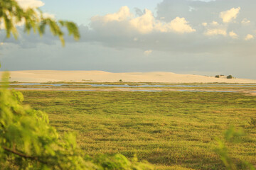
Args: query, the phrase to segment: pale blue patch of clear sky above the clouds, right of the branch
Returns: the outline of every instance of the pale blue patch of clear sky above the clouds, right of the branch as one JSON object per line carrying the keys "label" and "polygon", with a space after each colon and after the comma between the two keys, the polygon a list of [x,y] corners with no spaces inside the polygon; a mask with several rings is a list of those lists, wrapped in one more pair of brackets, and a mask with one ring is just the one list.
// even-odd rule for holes
{"label": "pale blue patch of clear sky above the clouds, right of the branch", "polygon": [[106,13],[114,13],[121,6],[134,8],[148,8],[151,11],[156,11],[156,6],[161,0],[43,0],[45,3],[42,10],[48,13],[55,14],[56,18],[68,19],[78,24],[90,23],[90,18],[96,15],[105,15]]}

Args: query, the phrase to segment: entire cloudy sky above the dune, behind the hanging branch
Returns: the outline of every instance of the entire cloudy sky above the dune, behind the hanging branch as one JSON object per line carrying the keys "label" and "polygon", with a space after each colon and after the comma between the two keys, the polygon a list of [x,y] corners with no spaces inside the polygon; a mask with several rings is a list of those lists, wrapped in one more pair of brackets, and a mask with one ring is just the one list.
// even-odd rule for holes
{"label": "entire cloudy sky above the dune, behind the hanging branch", "polygon": [[46,33],[5,38],[1,70],[102,70],[256,79],[255,0],[18,0],[78,24],[77,42]]}

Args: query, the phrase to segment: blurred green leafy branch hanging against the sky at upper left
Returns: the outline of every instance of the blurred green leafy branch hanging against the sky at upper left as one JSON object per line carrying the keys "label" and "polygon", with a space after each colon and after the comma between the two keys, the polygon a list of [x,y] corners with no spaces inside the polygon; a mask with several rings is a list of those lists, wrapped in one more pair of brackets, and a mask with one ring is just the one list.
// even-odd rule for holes
{"label": "blurred green leafy branch hanging against the sky at upper left", "polygon": [[61,27],[67,28],[69,35],[73,35],[75,40],[80,38],[80,33],[75,23],[55,21],[53,18],[44,17],[38,8],[21,8],[15,0],[0,0],[0,23],[4,24],[7,38],[11,34],[14,35],[14,38],[18,38],[16,25],[21,23],[24,24],[24,30],[27,33],[33,30],[34,33],[38,32],[40,35],[43,35],[46,26],[49,26],[51,33],[58,36],[63,45],[65,45],[65,40]]}

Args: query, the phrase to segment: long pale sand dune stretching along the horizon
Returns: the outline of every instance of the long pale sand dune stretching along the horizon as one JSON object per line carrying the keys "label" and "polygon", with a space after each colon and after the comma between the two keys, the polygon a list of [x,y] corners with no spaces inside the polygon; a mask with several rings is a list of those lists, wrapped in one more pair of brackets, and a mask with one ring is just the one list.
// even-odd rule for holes
{"label": "long pale sand dune stretching along the horizon", "polygon": [[[3,72],[0,72],[0,75]],[[117,82],[119,79],[127,82],[169,82],[169,83],[253,83],[255,79],[226,79],[206,77],[191,74],[175,74],[172,72],[127,72],[111,73],[102,71],[55,71],[55,70],[26,70],[10,72],[10,81],[19,82]]]}

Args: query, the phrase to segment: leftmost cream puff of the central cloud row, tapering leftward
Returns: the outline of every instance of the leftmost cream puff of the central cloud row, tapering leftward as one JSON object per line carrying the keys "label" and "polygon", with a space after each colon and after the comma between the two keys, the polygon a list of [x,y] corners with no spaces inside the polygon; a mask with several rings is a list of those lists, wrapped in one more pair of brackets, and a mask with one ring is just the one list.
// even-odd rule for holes
{"label": "leftmost cream puff of the central cloud row, tapering leftward", "polygon": [[111,21],[124,21],[132,16],[133,15],[130,13],[128,6],[122,6],[117,13],[110,13],[105,16],[93,16],[92,21],[104,21],[105,23]]}

